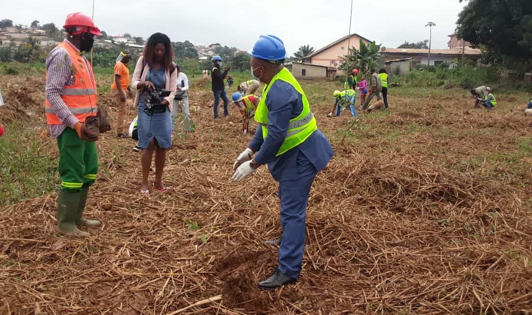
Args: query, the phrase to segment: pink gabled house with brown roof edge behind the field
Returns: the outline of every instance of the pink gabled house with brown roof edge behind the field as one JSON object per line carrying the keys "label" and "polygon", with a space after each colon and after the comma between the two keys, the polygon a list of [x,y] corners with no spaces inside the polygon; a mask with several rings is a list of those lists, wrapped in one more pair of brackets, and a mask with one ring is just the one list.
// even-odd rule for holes
{"label": "pink gabled house with brown roof edge behind the field", "polygon": [[365,44],[371,42],[369,39],[353,33],[351,36],[344,36],[305,56],[303,63],[338,68],[344,62],[348,45],[360,49],[360,40]]}

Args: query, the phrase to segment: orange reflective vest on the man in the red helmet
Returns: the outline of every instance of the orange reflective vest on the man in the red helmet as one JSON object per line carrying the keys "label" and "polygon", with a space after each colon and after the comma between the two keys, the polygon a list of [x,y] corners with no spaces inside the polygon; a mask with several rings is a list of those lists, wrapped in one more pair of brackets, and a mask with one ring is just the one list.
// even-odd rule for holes
{"label": "orange reflective vest on the man in the red helmet", "polygon": [[[69,107],[70,111],[82,123],[89,116],[96,116],[98,112],[96,103],[96,81],[94,80],[93,69],[88,60],[80,56],[79,52],[69,43],[61,42],[57,48],[64,48],[72,62],[72,73],[74,75],[74,84],[63,87],[61,98]],[[56,64],[55,66],[66,66],[66,63]],[[48,72],[46,73],[48,76]],[[57,118],[48,99],[45,102],[46,120],[48,125],[60,125],[62,121]]]}

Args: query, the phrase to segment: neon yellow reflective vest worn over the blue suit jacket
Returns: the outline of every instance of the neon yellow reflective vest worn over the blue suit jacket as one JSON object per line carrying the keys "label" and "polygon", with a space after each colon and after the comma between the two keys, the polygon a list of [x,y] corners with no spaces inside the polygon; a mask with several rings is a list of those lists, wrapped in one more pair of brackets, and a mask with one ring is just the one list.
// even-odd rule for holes
{"label": "neon yellow reflective vest worn over the blue suit jacket", "polygon": [[292,85],[294,89],[301,94],[301,99],[303,101],[303,110],[301,111],[301,114],[290,119],[288,123],[288,132],[286,133],[285,141],[282,143],[276,154],[276,156],[279,156],[291,148],[305,142],[305,140],[318,129],[318,126],[316,125],[316,118],[310,111],[309,101],[306,99],[305,92],[303,92],[303,89],[301,89],[301,86],[297,83],[292,73],[286,68],[282,68],[281,71],[272,78],[270,84],[264,86],[262,99],[255,111],[255,121],[262,126],[263,139],[266,139],[268,136],[268,106],[266,106],[266,99],[268,98],[268,92],[270,91],[271,86],[277,80],[285,81]]}

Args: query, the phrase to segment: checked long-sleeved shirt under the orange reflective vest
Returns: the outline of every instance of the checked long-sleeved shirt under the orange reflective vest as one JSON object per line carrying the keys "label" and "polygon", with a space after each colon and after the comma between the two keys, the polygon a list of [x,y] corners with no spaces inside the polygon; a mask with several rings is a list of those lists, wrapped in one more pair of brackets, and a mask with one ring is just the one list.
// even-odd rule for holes
{"label": "checked long-sleeved shirt under the orange reflective vest", "polygon": [[[68,39],[64,41],[79,51]],[[86,59],[85,57],[83,58]],[[85,60],[85,63],[88,65],[87,60]],[[61,98],[63,87],[73,85],[76,82],[72,72],[72,61],[66,49],[56,47],[50,51],[48,58],[46,58],[46,71],[46,85],[44,88],[46,99],[50,102],[57,118],[63,123],[59,125],[48,124],[50,135],[52,138],[57,138],[66,127],[74,128],[74,125],[79,122],[78,118],[74,116]]]}

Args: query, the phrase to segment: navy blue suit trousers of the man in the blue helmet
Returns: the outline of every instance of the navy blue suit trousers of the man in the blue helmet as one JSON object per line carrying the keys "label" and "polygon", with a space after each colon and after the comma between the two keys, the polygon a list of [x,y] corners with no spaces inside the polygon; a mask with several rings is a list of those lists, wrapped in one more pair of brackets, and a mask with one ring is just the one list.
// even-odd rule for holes
{"label": "navy blue suit trousers of the man in the blue helmet", "polygon": [[282,224],[279,270],[292,278],[297,278],[301,272],[305,249],[306,206],[317,173],[314,165],[300,152],[297,156],[298,179],[279,182]]}

